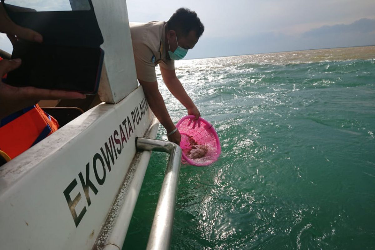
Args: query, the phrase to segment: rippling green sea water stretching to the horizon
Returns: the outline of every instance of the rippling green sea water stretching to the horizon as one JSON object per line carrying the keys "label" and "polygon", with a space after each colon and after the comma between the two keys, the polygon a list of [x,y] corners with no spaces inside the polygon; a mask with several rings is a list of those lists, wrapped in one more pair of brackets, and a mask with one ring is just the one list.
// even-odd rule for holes
{"label": "rippling green sea water stretching to the horizon", "polygon": [[[176,73],[222,155],[182,166],[171,249],[375,249],[375,46],[185,60]],[[158,81],[177,123],[186,109]],[[145,249],[166,162],[152,154],[123,249]]]}

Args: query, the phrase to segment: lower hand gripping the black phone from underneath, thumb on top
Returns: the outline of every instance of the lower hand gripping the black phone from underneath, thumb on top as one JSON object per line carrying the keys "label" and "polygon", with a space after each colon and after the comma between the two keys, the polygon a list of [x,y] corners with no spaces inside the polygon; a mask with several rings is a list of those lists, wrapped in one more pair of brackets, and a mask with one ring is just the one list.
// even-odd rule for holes
{"label": "lower hand gripping the black phone from underneath, thumb on top", "polygon": [[[21,65],[21,59],[1,60],[0,77]],[[0,81],[0,119],[23,108],[35,105],[39,100],[83,99],[82,93],[63,90],[47,90],[34,87],[13,87]]]}

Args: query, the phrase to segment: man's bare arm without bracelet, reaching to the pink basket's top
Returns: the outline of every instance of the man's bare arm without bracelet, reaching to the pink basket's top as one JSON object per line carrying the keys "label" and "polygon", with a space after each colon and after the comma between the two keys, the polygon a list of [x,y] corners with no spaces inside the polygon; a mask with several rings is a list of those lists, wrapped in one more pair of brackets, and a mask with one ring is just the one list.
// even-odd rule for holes
{"label": "man's bare arm without bracelet, reaching to the pink basket's top", "polygon": [[193,101],[190,99],[189,95],[186,93],[180,80],[177,78],[175,70],[160,67],[160,72],[162,73],[163,81],[166,87],[172,93],[172,95],[176,97],[182,105],[184,105],[184,107],[187,109],[187,114],[195,115],[195,118],[198,119],[201,114]]}

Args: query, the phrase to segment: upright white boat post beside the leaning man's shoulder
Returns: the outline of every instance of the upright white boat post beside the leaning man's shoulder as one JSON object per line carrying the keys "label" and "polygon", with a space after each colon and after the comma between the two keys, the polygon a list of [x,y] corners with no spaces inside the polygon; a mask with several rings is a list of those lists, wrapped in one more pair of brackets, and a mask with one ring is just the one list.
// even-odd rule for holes
{"label": "upright white boat post beside the leaning man's shoulder", "polygon": [[99,85],[103,102],[117,103],[138,86],[125,0],[92,0],[104,43],[104,70]]}

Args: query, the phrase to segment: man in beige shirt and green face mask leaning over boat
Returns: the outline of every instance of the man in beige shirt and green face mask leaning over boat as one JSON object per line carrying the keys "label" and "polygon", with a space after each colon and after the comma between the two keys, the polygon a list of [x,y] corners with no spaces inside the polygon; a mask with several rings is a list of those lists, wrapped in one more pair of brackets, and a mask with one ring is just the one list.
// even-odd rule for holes
{"label": "man in beige shirt and green face mask leaning over boat", "polygon": [[159,64],[168,90],[187,109],[187,114],[200,116],[198,108],[176,76],[174,60],[182,59],[198,42],[204,26],[195,12],[180,8],[167,22],[130,23],[136,73],[148,105],[165,127],[168,140],[180,144],[181,135],[168,114],[156,81]]}

